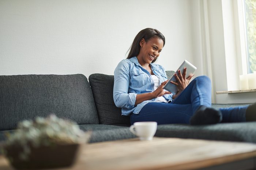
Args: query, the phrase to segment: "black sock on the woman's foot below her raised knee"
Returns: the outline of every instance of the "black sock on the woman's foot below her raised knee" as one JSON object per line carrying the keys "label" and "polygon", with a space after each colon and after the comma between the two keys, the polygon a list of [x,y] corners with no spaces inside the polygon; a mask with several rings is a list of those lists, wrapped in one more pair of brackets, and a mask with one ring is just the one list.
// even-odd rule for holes
{"label": "black sock on the woman's foot below her raised knee", "polygon": [[200,106],[190,119],[191,125],[216,124],[222,121],[221,111]]}

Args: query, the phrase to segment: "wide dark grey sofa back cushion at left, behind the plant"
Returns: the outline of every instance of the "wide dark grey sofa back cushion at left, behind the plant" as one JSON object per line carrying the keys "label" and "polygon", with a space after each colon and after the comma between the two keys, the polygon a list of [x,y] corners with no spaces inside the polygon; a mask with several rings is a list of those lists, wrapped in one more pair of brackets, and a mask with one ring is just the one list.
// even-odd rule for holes
{"label": "wide dark grey sofa back cushion at left, behind the plant", "polygon": [[98,124],[87,78],[72,75],[0,76],[0,130],[16,128],[20,120],[46,117]]}

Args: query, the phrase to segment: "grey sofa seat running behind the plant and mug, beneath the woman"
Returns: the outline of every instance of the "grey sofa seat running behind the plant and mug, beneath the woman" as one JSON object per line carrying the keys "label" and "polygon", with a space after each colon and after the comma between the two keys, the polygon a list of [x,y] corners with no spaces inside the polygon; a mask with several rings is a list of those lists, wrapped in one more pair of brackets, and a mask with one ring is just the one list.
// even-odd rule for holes
{"label": "grey sofa seat running behind the plant and mug, beneath the woman", "polygon": [[[256,122],[219,123],[213,125],[163,124],[157,126],[155,136],[169,138],[192,138],[256,143]],[[81,124],[83,131],[92,131],[90,143],[108,140],[135,138],[129,127],[104,124]],[[6,140],[6,133],[0,131],[0,143]]]}

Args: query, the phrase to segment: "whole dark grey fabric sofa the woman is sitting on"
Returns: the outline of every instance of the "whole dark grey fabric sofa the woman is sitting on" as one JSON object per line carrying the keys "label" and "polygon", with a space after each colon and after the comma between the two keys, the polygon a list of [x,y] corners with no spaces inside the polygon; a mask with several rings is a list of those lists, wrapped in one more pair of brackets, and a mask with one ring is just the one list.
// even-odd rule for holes
{"label": "whole dark grey fabric sofa the woman is sitting on", "polygon": [[[5,132],[15,131],[19,121],[49,114],[93,131],[91,143],[136,137],[129,131],[129,117],[121,116],[121,108],[114,105],[113,83],[114,77],[105,74],[91,74],[89,82],[82,74],[0,76],[0,141],[6,139]],[[246,122],[158,125],[155,136],[256,143],[255,134],[256,122]]]}

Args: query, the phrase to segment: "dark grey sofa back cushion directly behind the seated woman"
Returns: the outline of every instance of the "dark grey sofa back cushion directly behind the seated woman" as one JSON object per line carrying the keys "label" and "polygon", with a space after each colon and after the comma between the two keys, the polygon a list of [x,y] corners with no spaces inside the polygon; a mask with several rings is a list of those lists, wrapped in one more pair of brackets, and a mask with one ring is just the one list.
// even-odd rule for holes
{"label": "dark grey sofa back cushion directly behind the seated woman", "polygon": [[[173,73],[174,71],[166,71],[168,78],[170,78]],[[116,107],[114,104],[114,76],[91,74],[89,76],[89,83],[93,91],[99,124],[131,125],[130,117],[121,116],[121,108]]]}

